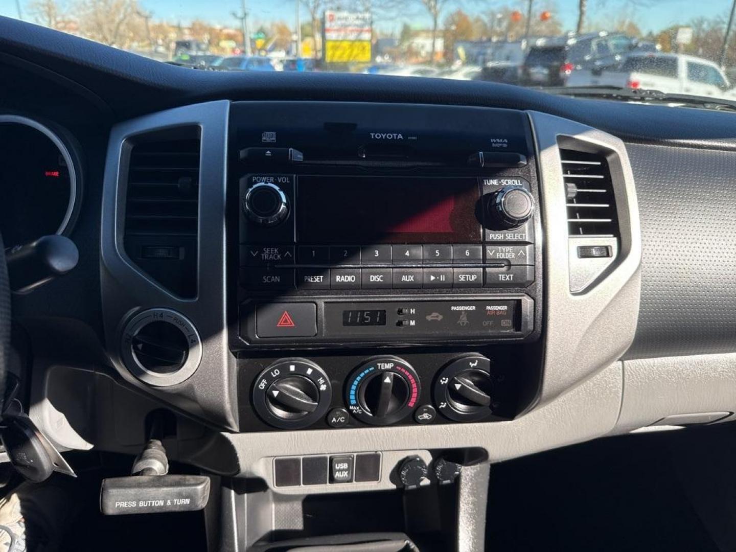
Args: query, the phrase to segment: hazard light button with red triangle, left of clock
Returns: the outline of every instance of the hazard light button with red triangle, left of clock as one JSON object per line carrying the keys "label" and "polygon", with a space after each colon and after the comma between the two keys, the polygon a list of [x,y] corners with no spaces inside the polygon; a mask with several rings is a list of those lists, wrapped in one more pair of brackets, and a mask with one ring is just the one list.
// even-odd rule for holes
{"label": "hazard light button with red triangle, left of clock", "polygon": [[313,302],[274,302],[255,308],[258,337],[311,337],[317,333]]}

